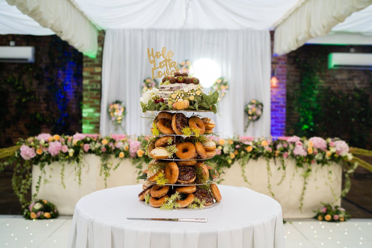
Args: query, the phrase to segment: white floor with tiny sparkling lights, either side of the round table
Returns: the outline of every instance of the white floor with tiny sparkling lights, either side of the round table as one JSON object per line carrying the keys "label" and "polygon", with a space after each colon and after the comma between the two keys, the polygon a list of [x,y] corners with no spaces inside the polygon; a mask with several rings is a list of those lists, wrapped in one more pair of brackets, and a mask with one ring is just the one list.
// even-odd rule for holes
{"label": "white floor with tiny sparkling lights, either side of the round table", "polygon": [[[72,219],[25,220],[22,216],[0,215],[0,247],[67,247]],[[287,248],[372,247],[372,219],[352,219],[342,223],[292,220],[284,224]]]}

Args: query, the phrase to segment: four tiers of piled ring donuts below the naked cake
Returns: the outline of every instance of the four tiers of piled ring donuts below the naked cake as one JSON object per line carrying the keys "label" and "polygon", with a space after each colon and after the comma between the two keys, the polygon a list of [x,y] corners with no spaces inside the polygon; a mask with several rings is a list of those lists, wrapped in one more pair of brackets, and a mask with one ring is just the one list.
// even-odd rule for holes
{"label": "four tiers of piled ring donuts below the naked cake", "polygon": [[[164,81],[164,80],[163,80]],[[140,177],[142,204],[164,210],[205,209],[221,201],[219,173],[207,160],[216,155],[215,122],[201,112],[169,109],[154,115],[146,154],[153,160]],[[196,115],[198,113],[198,115]]]}

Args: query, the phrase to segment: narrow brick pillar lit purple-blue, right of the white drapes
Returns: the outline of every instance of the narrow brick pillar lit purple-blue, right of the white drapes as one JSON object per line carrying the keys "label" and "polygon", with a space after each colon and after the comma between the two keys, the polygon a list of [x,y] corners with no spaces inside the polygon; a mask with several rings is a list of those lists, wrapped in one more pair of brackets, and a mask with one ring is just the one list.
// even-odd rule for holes
{"label": "narrow brick pillar lit purple-blue, right of the white drapes", "polygon": [[[271,51],[273,51],[274,32],[271,34]],[[273,54],[273,52],[272,52]],[[287,56],[273,55],[271,58],[271,70],[278,78],[277,87],[271,87],[271,135],[285,135],[286,118],[286,77]]]}

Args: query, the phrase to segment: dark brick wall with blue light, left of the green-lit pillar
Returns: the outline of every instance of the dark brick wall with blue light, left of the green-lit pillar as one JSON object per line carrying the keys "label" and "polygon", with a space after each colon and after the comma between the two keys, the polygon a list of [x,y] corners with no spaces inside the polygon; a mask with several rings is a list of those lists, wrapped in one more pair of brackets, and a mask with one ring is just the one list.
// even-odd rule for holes
{"label": "dark brick wall with blue light, left of the green-lit pillar", "polygon": [[55,35],[0,35],[1,46],[10,41],[34,46],[35,63],[0,63],[0,147],[40,132],[80,132],[83,55]]}

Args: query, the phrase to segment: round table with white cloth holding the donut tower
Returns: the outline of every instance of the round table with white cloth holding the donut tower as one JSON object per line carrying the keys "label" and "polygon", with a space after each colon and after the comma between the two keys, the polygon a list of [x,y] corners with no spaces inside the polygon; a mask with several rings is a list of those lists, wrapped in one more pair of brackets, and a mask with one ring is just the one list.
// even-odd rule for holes
{"label": "round table with white cloth holding the donut tower", "polygon": [[[203,210],[164,211],[138,201],[142,185],[96,191],[75,207],[68,247],[285,247],[282,208],[245,187],[219,185],[222,201]],[[126,218],[206,218],[208,222]]]}

